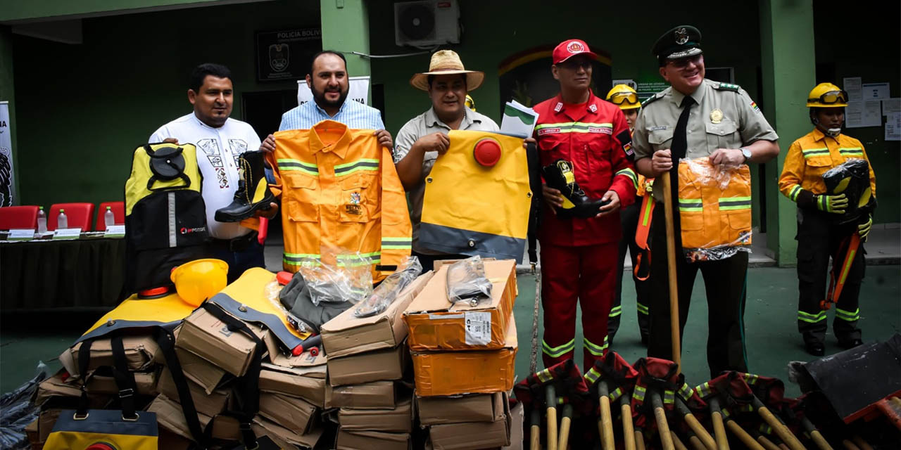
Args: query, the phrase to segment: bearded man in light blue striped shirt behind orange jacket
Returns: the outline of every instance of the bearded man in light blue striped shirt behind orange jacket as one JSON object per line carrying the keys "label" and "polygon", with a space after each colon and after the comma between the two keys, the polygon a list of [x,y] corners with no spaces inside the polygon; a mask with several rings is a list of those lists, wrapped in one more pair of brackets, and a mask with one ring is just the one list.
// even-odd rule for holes
{"label": "bearded man in light blue striped shirt behind orange jacket", "polygon": [[[378,143],[394,148],[391,134],[385,130],[381,112],[365,104],[347,100],[350,81],[347,75],[347,60],[341,52],[323,50],[313,57],[306,85],[313,92],[313,102],[306,102],[282,114],[279,131],[307,130],[325,120],[340,121],[354,130],[375,130]],[[263,150],[276,148],[275,138],[270,134],[263,141]]]}

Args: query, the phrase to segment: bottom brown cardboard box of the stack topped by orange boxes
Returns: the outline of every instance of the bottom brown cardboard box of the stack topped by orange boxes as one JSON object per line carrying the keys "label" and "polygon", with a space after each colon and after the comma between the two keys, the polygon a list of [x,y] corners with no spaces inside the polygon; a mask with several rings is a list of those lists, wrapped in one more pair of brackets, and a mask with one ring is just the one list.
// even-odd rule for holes
{"label": "bottom brown cardboard box of the stack topped by orange boxes", "polygon": [[504,404],[504,419],[429,427],[429,443],[435,450],[494,448],[510,445],[510,407]]}

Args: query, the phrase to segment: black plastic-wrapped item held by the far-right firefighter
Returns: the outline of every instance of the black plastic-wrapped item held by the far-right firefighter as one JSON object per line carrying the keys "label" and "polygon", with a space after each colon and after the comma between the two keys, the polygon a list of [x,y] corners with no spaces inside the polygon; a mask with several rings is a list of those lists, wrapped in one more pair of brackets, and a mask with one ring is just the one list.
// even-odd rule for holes
{"label": "black plastic-wrapped item held by the far-right firefighter", "polygon": [[866,159],[848,159],[823,174],[823,182],[830,194],[845,194],[848,209],[838,216],[839,223],[849,223],[869,214],[876,207],[876,197],[869,185],[869,163]]}

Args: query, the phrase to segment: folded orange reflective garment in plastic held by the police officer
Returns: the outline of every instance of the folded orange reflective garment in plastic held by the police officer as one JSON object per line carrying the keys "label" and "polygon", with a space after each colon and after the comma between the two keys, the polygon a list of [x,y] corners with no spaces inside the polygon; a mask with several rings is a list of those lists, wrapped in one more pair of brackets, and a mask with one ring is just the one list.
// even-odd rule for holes
{"label": "folded orange reflective garment in plastic held by the police officer", "polygon": [[707,157],[678,165],[683,248],[751,245],[751,169],[724,172]]}

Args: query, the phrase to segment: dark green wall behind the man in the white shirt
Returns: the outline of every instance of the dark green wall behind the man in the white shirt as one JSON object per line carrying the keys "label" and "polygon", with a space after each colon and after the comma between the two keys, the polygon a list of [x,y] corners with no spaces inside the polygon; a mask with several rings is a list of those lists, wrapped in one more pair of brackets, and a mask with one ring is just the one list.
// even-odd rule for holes
{"label": "dark green wall behind the man in the white shirt", "polygon": [[232,69],[241,93],[296,89],[255,81],[254,31],[318,27],[319,3],[285,0],[85,19],[84,43],[14,36],[21,204],[121,199],[132,151],[191,112],[201,62]]}

